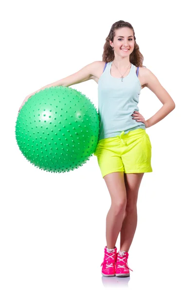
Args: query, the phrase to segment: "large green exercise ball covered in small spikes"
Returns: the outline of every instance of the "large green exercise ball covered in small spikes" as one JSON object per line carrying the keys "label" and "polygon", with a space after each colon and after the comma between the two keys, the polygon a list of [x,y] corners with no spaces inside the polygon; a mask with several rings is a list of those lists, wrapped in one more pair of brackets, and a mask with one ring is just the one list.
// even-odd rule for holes
{"label": "large green exercise ball covered in small spikes", "polygon": [[99,115],[85,94],[57,86],[31,96],[19,111],[16,140],[24,157],[49,172],[85,164],[99,136]]}

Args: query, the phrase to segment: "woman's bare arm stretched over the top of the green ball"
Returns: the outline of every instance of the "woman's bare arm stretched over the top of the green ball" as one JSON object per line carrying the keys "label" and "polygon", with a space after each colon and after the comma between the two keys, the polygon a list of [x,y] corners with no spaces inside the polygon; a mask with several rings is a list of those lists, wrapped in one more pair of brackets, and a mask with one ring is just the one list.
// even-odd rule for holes
{"label": "woman's bare arm stretched over the top of the green ball", "polygon": [[96,70],[99,62],[101,62],[101,61],[92,62],[92,63],[88,64],[87,66],[83,67],[78,72],[73,73],[73,74],[71,74],[63,79],[57,80],[51,84],[48,84],[48,85],[40,88],[39,90],[27,95],[26,98],[24,99],[23,103],[21,104],[19,110],[22,108],[22,106],[25,104],[25,102],[28,100],[28,98],[30,98],[32,95],[34,95],[35,93],[37,93],[41,90],[44,90],[44,89],[52,87],[52,86],[53,87],[54,86],[69,87],[70,85],[78,84],[78,83],[85,82],[85,81],[92,79],[92,77],[94,76],[94,74],[96,72],[95,70]]}

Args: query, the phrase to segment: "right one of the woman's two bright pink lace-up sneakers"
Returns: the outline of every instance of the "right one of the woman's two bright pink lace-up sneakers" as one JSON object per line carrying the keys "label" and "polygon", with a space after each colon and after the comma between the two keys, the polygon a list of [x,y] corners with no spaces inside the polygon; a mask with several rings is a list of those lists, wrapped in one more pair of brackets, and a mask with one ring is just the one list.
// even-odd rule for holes
{"label": "right one of the woman's two bright pink lace-up sneakers", "polygon": [[[127,252],[118,252],[116,255],[115,275],[116,277],[129,277],[131,270],[128,267],[127,259],[129,254]],[[133,272],[133,270],[131,270]]]}

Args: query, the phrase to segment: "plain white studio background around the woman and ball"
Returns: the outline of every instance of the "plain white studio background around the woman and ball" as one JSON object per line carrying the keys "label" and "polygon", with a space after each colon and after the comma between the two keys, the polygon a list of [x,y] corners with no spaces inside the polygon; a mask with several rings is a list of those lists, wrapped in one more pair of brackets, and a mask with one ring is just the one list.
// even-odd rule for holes
{"label": "plain white studio background around the woman and ball", "polygon": [[[1,7],[0,291],[64,292],[126,288],[132,292],[193,291],[192,29],[189,1],[7,1]],[[30,164],[15,139],[24,98],[102,60],[111,25],[132,24],[150,69],[175,110],[147,128],[152,173],[138,197],[138,226],[129,278],[103,277],[110,195],[97,158],[69,173]],[[98,109],[93,80],[71,86]],[[139,111],[162,106],[148,88]],[[120,237],[118,237],[118,250]]]}

